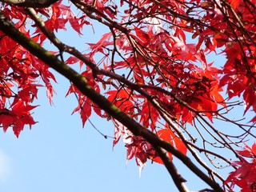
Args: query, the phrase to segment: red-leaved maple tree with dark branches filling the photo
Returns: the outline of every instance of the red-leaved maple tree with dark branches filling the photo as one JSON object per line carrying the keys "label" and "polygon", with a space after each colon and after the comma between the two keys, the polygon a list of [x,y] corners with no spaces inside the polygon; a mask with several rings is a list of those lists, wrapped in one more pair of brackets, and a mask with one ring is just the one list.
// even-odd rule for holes
{"label": "red-leaved maple tree with dark branches filling the photo", "polygon": [[[46,87],[52,102],[53,68],[70,80],[67,95],[76,95],[74,112],[81,114],[82,125],[92,113],[113,121],[114,145],[123,138],[127,159],[135,158],[141,170],[147,161],[162,163],[178,190],[188,191],[175,157],[214,191],[233,191],[234,186],[256,191],[255,0],[0,4],[4,131],[12,127],[18,137],[24,126],[36,123],[32,103],[39,87]],[[58,39],[61,30],[83,37],[82,29],[94,30],[95,23],[105,26],[106,34],[86,42],[88,50]],[[46,50],[48,42],[52,50]],[[219,55],[225,61],[212,59]],[[243,106],[242,119],[232,116]],[[234,171],[223,178],[215,159]]]}

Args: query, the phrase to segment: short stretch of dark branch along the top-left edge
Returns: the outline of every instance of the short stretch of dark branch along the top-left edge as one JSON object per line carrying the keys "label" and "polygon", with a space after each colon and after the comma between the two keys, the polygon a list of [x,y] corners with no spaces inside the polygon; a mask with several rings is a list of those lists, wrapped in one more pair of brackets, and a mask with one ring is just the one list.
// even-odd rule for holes
{"label": "short stretch of dark branch along the top-left edge", "polygon": [[0,0],[0,2],[22,7],[43,8],[58,2],[58,0]]}

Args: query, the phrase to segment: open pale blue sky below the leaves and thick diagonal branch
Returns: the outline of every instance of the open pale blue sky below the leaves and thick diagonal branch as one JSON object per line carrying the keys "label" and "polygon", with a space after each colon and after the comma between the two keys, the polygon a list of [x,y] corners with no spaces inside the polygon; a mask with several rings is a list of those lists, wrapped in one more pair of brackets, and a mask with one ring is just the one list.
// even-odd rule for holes
{"label": "open pale blue sky below the leaves and thick diagonal branch", "polygon": [[[164,166],[148,162],[139,178],[134,160],[126,164],[122,142],[112,150],[111,138],[103,138],[88,122],[82,129],[78,114],[70,115],[76,101],[65,98],[68,82],[59,76],[58,82],[54,106],[39,92],[38,123],[32,130],[26,127],[19,138],[11,129],[0,133],[0,191],[178,191]],[[112,124],[90,119],[102,133],[113,135]],[[202,189],[188,173],[183,170],[190,189]]]}

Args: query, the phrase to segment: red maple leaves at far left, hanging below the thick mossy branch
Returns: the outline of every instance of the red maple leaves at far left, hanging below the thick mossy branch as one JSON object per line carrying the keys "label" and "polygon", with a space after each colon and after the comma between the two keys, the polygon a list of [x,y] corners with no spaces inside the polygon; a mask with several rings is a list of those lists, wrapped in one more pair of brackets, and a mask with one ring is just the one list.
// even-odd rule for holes
{"label": "red maple leaves at far left, hanging below the thick mossy branch", "polygon": [[[25,15],[10,11],[10,17],[24,18]],[[16,23],[22,31],[26,31],[22,26],[22,20]],[[0,32],[1,33],[1,32]],[[29,34],[27,34],[29,35]],[[13,127],[14,134],[18,137],[25,125],[34,125],[34,119],[30,110],[34,107],[31,103],[37,98],[38,86],[34,81],[41,76],[47,83],[47,89],[51,89],[49,79],[54,78],[48,70],[48,66],[29,54],[27,50],[19,46],[5,34],[1,36],[1,115],[0,124],[6,131],[9,126]],[[34,37],[37,40],[38,37]],[[51,94],[51,93],[50,93]]]}

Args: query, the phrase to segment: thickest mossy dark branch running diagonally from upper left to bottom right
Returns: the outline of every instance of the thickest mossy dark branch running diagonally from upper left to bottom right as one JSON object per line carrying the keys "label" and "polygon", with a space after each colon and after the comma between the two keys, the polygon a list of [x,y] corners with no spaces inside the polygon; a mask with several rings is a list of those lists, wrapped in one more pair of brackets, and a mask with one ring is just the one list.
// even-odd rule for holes
{"label": "thickest mossy dark branch running diagonally from upper left to bottom right", "polygon": [[41,59],[42,62],[45,62],[48,66],[52,67],[59,74],[62,74],[64,77],[69,79],[70,82],[73,82],[74,86],[76,86],[78,90],[82,92],[82,94],[90,98],[92,102],[97,104],[102,110],[105,110],[106,113],[113,116],[113,118],[116,118],[134,135],[142,136],[146,139],[146,141],[150,142],[155,149],[162,148],[169,151],[175,157],[180,159],[186,166],[190,168],[190,170],[194,172],[194,174],[197,174],[198,177],[202,179],[202,181],[206,182],[214,190],[218,192],[224,191],[217,182],[214,182],[206,174],[204,174],[202,170],[199,170],[198,167],[195,166],[193,162],[191,162],[190,158],[186,157],[186,155],[175,149],[174,146],[170,146],[170,143],[158,138],[155,134],[150,132],[150,130],[147,130],[138,122],[134,121],[134,119],[130,118],[117,106],[114,106],[111,102],[109,102],[104,96],[102,96],[102,94],[98,94],[97,91],[89,86],[85,77],[83,77],[81,74],[78,74],[69,66],[66,66],[66,64],[61,62],[57,56],[46,51],[42,48],[42,46],[39,46],[30,38],[27,38],[26,35],[18,31],[15,28],[14,24],[2,13],[0,13],[0,30],[2,30],[2,32],[4,32],[10,38],[14,39],[15,42],[18,42],[21,46],[24,46],[27,50],[30,51],[31,54],[34,54],[36,57]]}

